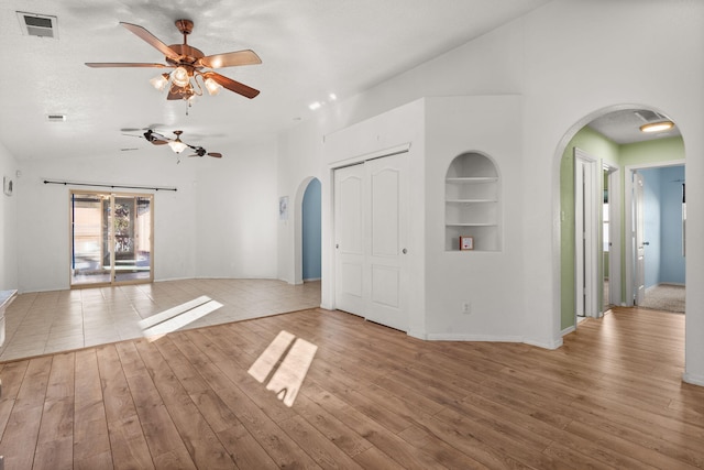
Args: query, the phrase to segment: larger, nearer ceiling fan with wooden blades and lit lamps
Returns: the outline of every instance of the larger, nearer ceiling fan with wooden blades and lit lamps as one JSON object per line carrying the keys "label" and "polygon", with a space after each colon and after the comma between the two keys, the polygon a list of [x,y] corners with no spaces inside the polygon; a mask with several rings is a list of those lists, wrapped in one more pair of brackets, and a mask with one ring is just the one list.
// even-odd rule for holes
{"label": "larger, nearer ceiling fan with wooden blades and lit lamps", "polygon": [[167,99],[189,100],[194,96],[201,96],[204,87],[210,95],[217,95],[222,87],[250,99],[260,94],[258,90],[228,78],[224,75],[220,75],[217,72],[201,72],[204,68],[261,64],[262,59],[254,51],[243,50],[223,54],[205,55],[200,50],[187,43],[187,36],[194,29],[194,22],[190,20],[176,20],[176,28],[184,35],[184,43],[168,46],[142,26],[124,22],[120,22],[120,24],[164,54],[166,64],[87,62],[86,65],[88,67],[173,68],[173,72],[162,74],[151,80],[152,85],[160,90],[165,89],[170,83]]}

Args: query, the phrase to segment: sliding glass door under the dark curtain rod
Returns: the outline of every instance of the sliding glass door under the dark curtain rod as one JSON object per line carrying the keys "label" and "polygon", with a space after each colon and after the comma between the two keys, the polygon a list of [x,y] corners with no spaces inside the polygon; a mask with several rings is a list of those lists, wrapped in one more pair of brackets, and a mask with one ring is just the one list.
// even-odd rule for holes
{"label": "sliding glass door under the dark curtain rod", "polygon": [[70,193],[70,285],[153,280],[153,195]]}

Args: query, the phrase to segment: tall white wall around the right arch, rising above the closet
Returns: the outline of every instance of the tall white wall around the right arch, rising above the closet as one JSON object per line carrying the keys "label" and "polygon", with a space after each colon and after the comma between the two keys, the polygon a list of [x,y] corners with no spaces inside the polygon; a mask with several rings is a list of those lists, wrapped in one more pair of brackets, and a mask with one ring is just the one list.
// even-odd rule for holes
{"label": "tall white wall around the right arch, rising above the closet", "polygon": [[[526,341],[558,346],[559,163],[564,145],[600,111],[640,105],[678,122],[685,142],[686,179],[702,181],[704,162],[697,156],[704,154],[703,43],[702,2],[554,1],[367,92],[321,109],[317,121],[279,139],[279,162],[309,167],[318,160],[322,135],[424,96],[520,94],[522,135],[506,135],[521,141],[524,185],[506,188],[506,198],[520,201],[522,214],[516,233],[521,247],[514,253],[514,263],[526,271],[516,316]],[[300,178],[279,176],[279,194],[290,193]],[[691,183],[688,193],[692,201],[688,238],[693,240],[692,233],[704,232],[704,187]],[[323,188],[323,199],[326,194]],[[323,226],[329,211],[330,204],[323,200]],[[324,240],[326,233],[323,244]],[[279,240],[279,261],[288,259],[293,243]],[[704,248],[692,247],[688,284],[704,282],[702,266]],[[686,295],[688,305],[704,303],[701,289],[688,289]],[[688,310],[685,376],[704,384],[702,331],[704,311]]]}

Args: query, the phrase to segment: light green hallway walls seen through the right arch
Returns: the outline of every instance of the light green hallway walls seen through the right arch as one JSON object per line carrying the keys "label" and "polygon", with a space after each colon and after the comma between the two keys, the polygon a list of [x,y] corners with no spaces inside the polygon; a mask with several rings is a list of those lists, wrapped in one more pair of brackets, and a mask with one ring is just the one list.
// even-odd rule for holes
{"label": "light green hallway walls seen through the right arch", "polygon": [[[625,192],[626,192],[626,166],[648,165],[651,163],[662,163],[668,161],[684,160],[684,142],[682,138],[656,139],[647,142],[619,145],[591,128],[582,128],[568,143],[560,162],[560,210],[561,210],[561,329],[574,326],[574,147],[579,147],[590,155],[598,159],[598,166],[607,162],[612,166],[620,168],[620,233],[622,233],[622,302],[626,292],[626,216],[625,216]],[[602,194],[603,183],[597,194]],[[613,192],[609,194],[614,200]],[[600,206],[601,207],[601,206]],[[601,225],[601,217],[600,217]],[[614,240],[613,242],[616,242]],[[601,239],[598,241],[601,247]],[[602,270],[603,261],[598,266]],[[602,302],[600,294],[600,305]]]}

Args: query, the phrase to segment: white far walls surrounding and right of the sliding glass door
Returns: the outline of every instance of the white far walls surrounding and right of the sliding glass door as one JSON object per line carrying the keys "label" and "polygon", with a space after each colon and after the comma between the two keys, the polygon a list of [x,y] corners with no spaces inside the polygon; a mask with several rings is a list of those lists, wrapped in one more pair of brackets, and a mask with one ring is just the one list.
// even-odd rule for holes
{"label": "white far walls surrounding and right of the sliding glass door", "polygon": [[[176,187],[154,193],[154,278],[276,277],[276,145],[222,159],[148,147],[114,159],[23,162],[16,181],[20,292],[69,287],[69,186],[44,179]],[[109,188],[85,187],[109,190]],[[117,192],[139,192],[120,189]]]}

